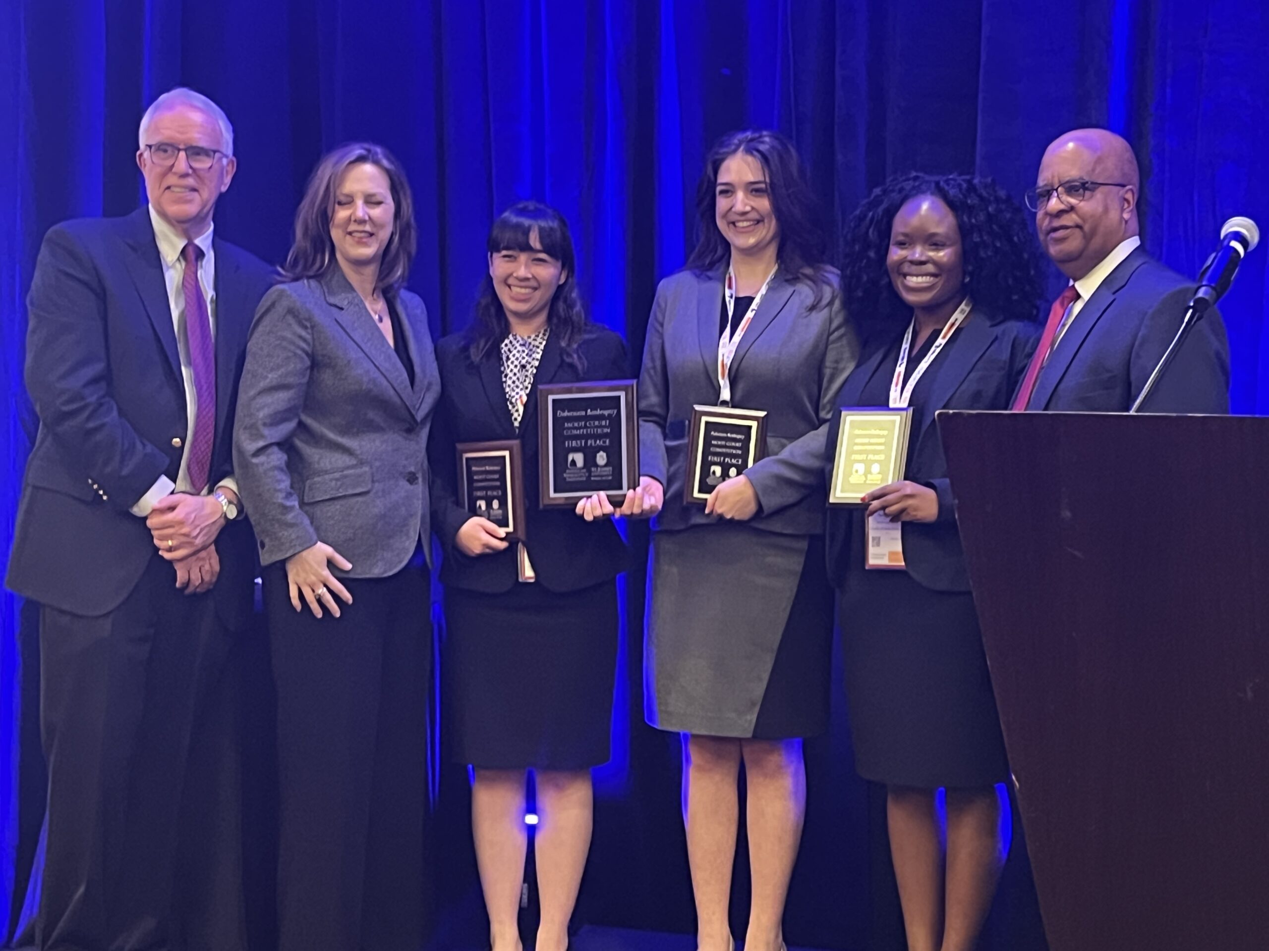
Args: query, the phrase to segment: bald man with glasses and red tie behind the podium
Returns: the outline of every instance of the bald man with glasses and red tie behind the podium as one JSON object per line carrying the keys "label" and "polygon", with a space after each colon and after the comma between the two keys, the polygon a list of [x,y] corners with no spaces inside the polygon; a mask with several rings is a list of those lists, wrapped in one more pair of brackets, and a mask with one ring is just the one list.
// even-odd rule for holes
{"label": "bald man with glasses and red tie behind the podium", "polygon": [[[1053,302],[1014,410],[1126,412],[1171,344],[1195,292],[1141,247],[1132,147],[1107,129],[1060,137],[1025,195],[1046,254],[1070,279]],[[1142,406],[1230,411],[1230,353],[1218,312],[1187,337]]]}

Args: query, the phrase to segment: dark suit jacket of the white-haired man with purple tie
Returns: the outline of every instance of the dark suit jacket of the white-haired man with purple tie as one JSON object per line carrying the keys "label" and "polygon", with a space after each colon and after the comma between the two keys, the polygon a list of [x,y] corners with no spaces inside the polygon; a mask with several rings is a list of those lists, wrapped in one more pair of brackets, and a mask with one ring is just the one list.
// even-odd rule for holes
{"label": "dark suit jacket of the white-haired man with purple tie", "polygon": [[[220,238],[213,246],[212,484],[231,472],[246,335],[272,283],[259,259]],[[27,306],[27,391],[39,431],[27,463],[6,583],[41,604],[100,616],[119,606],[155,557],[145,519],[128,510],[160,476],[176,481],[188,429],[176,332],[148,209],[51,228]],[[222,620],[237,628],[251,611],[250,525],[226,525],[216,549],[221,574],[212,597]]]}

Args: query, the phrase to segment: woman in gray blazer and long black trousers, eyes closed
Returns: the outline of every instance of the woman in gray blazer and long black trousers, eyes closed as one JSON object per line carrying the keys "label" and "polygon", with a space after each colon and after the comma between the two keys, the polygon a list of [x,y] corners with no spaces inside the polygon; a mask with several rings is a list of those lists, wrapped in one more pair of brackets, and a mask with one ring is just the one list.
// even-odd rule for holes
{"label": "woman in gray blazer and long black trousers, eyes closed", "polygon": [[233,459],[278,695],[280,951],[419,947],[440,393],[410,188],[374,145],[321,160],[255,316]]}

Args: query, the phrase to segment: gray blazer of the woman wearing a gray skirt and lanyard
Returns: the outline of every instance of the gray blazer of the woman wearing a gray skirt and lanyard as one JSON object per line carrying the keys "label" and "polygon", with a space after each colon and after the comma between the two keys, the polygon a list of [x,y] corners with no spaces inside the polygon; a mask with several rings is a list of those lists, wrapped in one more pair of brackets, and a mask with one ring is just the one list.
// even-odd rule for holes
{"label": "gray blazer of the woman wearing a gray skirt and lanyard", "polygon": [[[718,402],[718,322],[725,271],[679,271],[652,304],[638,379],[640,467],[665,486],[659,529],[707,525],[704,506],[683,503],[688,425],[695,403]],[[766,458],[746,473],[759,514],[747,524],[787,535],[824,531],[824,446],[829,420],[859,346],[841,297],[778,271],[731,365],[731,402],[766,410]]]}

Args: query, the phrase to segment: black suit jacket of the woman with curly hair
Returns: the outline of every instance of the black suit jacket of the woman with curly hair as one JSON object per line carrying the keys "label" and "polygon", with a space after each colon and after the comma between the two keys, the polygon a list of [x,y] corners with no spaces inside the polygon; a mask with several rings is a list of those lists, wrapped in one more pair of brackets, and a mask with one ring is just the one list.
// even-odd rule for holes
{"label": "black suit jacket of the woman with curly hair", "polygon": [[[943,440],[934,415],[939,410],[1008,410],[1014,391],[1027,373],[1041,328],[1024,321],[995,321],[975,308],[957,331],[958,339],[926,370],[931,374],[929,399],[914,422],[920,426],[909,436],[906,478],[929,486],[939,496],[939,517],[934,522],[902,524],[904,560],[919,583],[935,591],[968,591],[970,574],[961,549],[956,524],[952,483],[948,479]],[[874,353],[846,379],[838,406],[860,406],[860,396],[876,375],[895,372],[893,346]],[[829,426],[829,451],[825,454],[826,483],[831,484],[832,459],[838,451],[838,426]],[[999,460],[1008,465],[1006,459]],[[825,529],[829,577],[844,585],[849,559],[863,559],[863,508],[830,508]]]}

